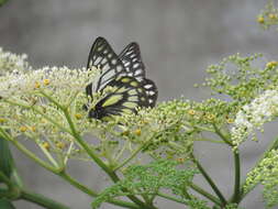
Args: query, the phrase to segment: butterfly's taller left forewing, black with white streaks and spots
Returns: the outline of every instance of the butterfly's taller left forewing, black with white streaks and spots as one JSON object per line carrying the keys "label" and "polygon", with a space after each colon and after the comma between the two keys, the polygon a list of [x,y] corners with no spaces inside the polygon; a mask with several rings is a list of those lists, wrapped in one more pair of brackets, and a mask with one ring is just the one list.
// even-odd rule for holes
{"label": "butterfly's taller left forewing, black with white streaks and spots", "polygon": [[92,89],[92,84],[86,87],[89,96],[92,96],[93,91],[101,90],[109,81],[124,72],[122,61],[103,37],[98,37],[91,46],[87,68],[90,69],[92,66],[100,68],[101,74],[96,89]]}

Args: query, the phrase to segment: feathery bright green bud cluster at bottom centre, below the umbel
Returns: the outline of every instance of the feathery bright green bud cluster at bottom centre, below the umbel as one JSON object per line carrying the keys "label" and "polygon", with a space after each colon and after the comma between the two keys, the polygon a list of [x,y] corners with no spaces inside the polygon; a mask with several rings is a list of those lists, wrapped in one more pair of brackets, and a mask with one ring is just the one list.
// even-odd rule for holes
{"label": "feathery bright green bud cluster at bottom centre, below the umbel", "polygon": [[[124,178],[115,185],[104,189],[92,202],[93,208],[111,198],[143,195],[146,199],[153,199],[162,189],[167,189],[178,196],[185,204],[191,199],[187,187],[192,182],[194,168],[177,168],[178,163],[173,161],[156,161],[147,165],[132,165],[124,170]],[[199,201],[190,201],[197,205]]]}

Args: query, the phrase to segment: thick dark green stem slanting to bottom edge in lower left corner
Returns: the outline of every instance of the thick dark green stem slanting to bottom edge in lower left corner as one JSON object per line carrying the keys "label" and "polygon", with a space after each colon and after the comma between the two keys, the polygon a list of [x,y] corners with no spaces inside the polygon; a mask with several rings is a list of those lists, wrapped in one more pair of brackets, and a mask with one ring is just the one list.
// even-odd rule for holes
{"label": "thick dark green stem slanting to bottom edge in lower left corner", "polygon": [[21,196],[19,197],[19,199],[31,201],[47,209],[69,209],[69,207],[54,201],[53,199],[49,199],[47,197],[44,197],[43,195],[30,193],[24,189],[21,190]]}

